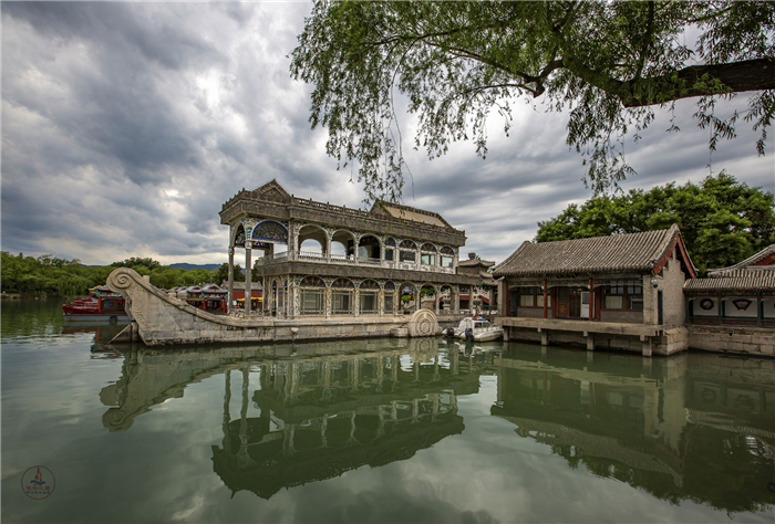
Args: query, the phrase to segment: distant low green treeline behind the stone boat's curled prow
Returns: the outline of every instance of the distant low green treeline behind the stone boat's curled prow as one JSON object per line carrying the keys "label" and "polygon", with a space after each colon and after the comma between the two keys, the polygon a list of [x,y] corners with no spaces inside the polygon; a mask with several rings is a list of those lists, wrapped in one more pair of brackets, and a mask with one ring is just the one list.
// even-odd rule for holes
{"label": "distant low green treeline behind the stone boat's curled prow", "polygon": [[[2,291],[31,294],[83,295],[90,287],[103,285],[116,268],[132,268],[141,275],[149,275],[157,287],[195,285],[215,282],[220,284],[217,271],[176,270],[152,259],[132,258],[102,268],[87,268],[78,260],[65,260],[44,254],[39,258],[12,255],[2,252]],[[241,272],[239,273],[241,276]]]}

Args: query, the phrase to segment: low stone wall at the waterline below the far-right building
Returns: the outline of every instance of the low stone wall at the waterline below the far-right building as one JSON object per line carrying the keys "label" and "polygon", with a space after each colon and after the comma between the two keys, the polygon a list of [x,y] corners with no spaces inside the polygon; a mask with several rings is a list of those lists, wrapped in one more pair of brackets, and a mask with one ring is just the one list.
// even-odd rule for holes
{"label": "low stone wall at the waterline below the far-right building", "polygon": [[690,325],[689,347],[706,352],[774,356],[775,329]]}

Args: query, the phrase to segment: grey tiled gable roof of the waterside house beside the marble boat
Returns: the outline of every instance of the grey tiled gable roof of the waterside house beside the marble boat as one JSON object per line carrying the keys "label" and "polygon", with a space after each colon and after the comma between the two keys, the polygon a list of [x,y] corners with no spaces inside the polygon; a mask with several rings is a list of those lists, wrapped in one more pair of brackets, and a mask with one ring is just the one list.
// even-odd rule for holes
{"label": "grey tiled gable roof of the waterside house beside the marble boat", "polygon": [[[676,224],[661,231],[612,234],[557,242],[525,242],[495,266],[497,276],[651,271],[670,252],[681,232]],[[691,261],[688,261],[691,264]]]}

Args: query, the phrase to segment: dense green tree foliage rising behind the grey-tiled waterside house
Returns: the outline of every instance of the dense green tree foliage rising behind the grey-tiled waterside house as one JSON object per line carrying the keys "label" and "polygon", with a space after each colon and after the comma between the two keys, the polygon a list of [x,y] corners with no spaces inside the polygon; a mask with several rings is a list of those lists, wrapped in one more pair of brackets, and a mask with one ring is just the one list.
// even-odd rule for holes
{"label": "dense green tree foliage rising behind the grey-tiled waterside house", "polygon": [[538,222],[538,242],[582,239],[679,224],[692,261],[704,273],[775,243],[775,196],[721,172],[700,185],[668,184],[649,191],[597,197]]}

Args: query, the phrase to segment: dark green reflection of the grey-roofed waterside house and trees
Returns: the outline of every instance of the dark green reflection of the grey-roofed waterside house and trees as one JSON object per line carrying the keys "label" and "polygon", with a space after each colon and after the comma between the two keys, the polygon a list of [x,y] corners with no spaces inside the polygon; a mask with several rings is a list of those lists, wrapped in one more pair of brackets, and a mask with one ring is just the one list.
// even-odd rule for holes
{"label": "dark green reflection of the grey-roofed waterside house and trees", "polygon": [[520,345],[497,365],[490,412],[574,469],[673,503],[731,512],[775,503],[775,361],[693,353],[641,360]]}

